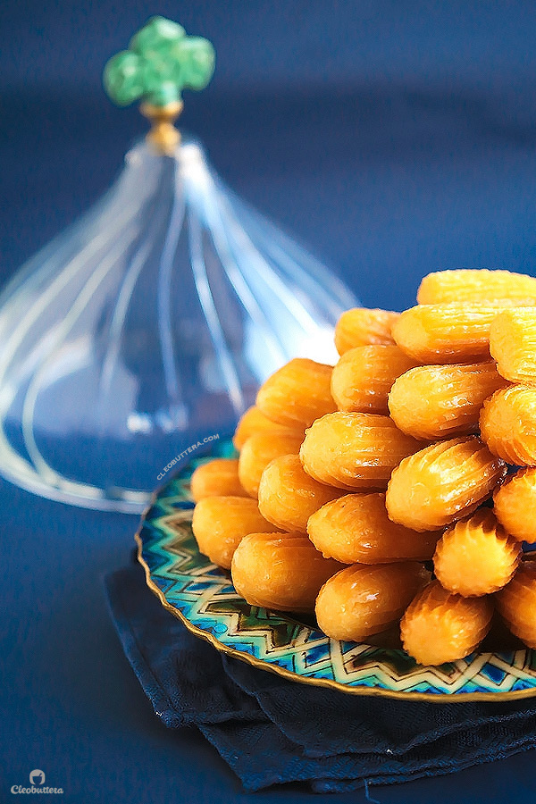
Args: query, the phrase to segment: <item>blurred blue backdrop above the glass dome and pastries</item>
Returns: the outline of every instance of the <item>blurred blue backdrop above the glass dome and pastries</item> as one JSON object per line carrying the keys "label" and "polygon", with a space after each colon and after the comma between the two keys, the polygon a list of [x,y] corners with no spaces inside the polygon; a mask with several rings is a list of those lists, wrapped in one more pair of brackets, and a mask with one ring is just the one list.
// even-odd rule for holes
{"label": "blurred blue backdrop above the glass dome and pastries", "polygon": [[[436,268],[532,271],[534,4],[155,11],[217,48],[214,83],[188,94],[184,126],[366,304],[409,305]],[[144,130],[135,109],[110,104],[100,74],[152,12],[106,0],[0,10],[0,279],[98,197]]]}

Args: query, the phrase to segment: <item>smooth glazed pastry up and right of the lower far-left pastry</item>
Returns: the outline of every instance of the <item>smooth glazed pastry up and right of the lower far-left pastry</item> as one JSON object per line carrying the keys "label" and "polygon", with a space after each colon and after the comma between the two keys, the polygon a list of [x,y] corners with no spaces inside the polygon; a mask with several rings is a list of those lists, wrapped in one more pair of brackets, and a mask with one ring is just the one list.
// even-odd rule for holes
{"label": "smooth glazed pastry up and right of the lower far-left pastry", "polygon": [[342,493],[306,474],[297,455],[283,455],[264,469],[259,510],[264,519],[282,531],[305,533],[309,516]]}

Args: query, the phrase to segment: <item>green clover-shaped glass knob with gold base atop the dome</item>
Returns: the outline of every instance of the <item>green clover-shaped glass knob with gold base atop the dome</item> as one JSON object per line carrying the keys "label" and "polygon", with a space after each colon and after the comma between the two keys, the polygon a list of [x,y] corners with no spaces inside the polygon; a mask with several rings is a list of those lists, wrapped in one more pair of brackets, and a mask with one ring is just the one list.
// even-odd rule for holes
{"label": "green clover-shaped glass knob with gold base atop the dome", "polygon": [[208,39],[188,37],[177,22],[152,17],[130,39],[129,49],[105,65],[105,90],[120,106],[142,101],[142,113],[153,121],[149,140],[169,153],[180,138],[172,121],[182,109],[182,90],[205,88],[214,60]]}

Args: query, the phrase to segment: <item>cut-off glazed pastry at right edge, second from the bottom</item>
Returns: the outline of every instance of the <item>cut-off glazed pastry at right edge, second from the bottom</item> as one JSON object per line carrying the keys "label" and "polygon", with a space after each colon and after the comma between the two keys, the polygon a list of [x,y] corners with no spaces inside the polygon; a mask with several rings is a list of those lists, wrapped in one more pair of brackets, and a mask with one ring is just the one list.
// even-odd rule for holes
{"label": "cut-off glazed pastry at right edge, second from the bottom", "polygon": [[536,542],[536,469],[519,469],[493,495],[501,525],[518,541]]}

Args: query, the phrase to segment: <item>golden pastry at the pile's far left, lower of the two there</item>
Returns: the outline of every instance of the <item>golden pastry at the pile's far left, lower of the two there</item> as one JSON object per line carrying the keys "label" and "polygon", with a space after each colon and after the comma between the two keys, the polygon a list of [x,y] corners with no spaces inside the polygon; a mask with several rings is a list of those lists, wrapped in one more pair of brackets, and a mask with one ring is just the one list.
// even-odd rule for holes
{"label": "golden pastry at the pile's far left, lower of the two there", "polygon": [[194,508],[192,531],[197,547],[214,564],[230,569],[234,551],[247,533],[273,531],[255,499],[205,497]]}

